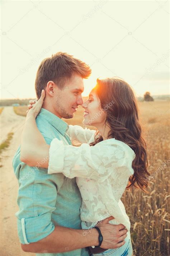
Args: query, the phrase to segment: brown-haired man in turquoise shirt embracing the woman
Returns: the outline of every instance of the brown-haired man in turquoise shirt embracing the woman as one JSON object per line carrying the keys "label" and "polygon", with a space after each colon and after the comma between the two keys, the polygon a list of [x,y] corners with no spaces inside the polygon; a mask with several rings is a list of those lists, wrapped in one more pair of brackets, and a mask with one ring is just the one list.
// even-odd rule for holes
{"label": "brown-haired man in turquoise shirt embracing the woman", "polygon": [[[42,89],[46,98],[36,118],[38,129],[47,144],[58,138],[65,145],[71,144],[67,135],[68,125],[61,118],[72,118],[76,108],[83,103],[83,78],[88,78],[90,67],[66,53],[57,53],[40,64],[36,77],[36,94]],[[35,145],[36,147],[36,145]],[[80,220],[81,194],[76,180],[62,174],[47,174],[47,169],[30,167],[20,161],[20,147],[13,167],[19,180],[18,235],[24,251],[43,255],[87,256],[85,247],[98,246],[98,230],[83,235]],[[44,159],[43,161],[46,161]],[[111,225],[110,219],[100,223],[103,248],[117,248],[124,244],[127,230],[124,226]],[[119,243],[121,242],[121,243]]]}

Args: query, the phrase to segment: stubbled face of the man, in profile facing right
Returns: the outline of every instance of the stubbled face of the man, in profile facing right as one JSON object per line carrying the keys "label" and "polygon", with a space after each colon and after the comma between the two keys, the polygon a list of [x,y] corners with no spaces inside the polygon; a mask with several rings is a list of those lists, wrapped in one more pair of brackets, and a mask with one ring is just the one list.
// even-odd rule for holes
{"label": "stubbled face of the man, in profile facing right", "polygon": [[81,96],[83,91],[83,78],[78,75],[73,75],[71,79],[66,82],[62,90],[56,86],[53,107],[60,117],[74,117],[76,108],[83,103]]}

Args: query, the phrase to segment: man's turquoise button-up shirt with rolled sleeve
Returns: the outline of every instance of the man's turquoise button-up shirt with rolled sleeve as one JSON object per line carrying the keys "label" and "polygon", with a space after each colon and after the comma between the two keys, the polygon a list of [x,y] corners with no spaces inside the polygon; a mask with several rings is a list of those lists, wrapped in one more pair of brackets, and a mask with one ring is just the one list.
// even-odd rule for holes
{"label": "man's turquoise button-up shirt with rolled sleeve", "polygon": [[[47,144],[58,138],[65,145],[71,140],[66,122],[42,108],[36,123]],[[36,147],[36,145],[35,145]],[[43,159],[42,161],[46,161]],[[22,244],[37,242],[53,232],[55,226],[81,229],[81,194],[75,178],[63,174],[47,174],[47,169],[30,167],[20,161],[20,146],[13,158],[13,168],[19,182],[16,212],[18,235]],[[82,237],[83,239],[83,237]],[[41,253],[44,256],[88,256],[85,248],[65,253]]]}

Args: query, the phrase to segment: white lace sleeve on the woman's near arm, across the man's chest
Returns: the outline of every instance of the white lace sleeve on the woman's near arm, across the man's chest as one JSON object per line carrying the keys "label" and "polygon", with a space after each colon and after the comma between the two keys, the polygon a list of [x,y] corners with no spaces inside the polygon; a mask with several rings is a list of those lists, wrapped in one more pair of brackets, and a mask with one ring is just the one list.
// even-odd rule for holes
{"label": "white lace sleeve on the woman's near arm, across the man's chest", "polygon": [[[104,180],[114,175],[114,169],[126,166],[126,151],[121,145],[82,144],[80,147],[64,145],[53,139],[49,149],[48,174],[62,172],[68,178],[81,177]],[[127,168],[124,168],[126,171]],[[116,177],[118,174],[116,174]]]}

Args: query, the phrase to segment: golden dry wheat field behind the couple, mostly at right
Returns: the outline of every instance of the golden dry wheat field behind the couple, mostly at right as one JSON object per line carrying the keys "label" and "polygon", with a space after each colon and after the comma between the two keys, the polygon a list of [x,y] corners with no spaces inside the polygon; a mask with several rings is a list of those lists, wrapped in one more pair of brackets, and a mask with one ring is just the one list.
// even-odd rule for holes
{"label": "golden dry wheat field behind the couple, mostly at right", "polygon": [[[131,221],[131,238],[135,256],[168,256],[170,231],[170,123],[169,102],[140,102],[140,119],[148,148],[148,171],[153,173],[148,193],[126,190],[122,201]],[[17,112],[25,113],[21,107]],[[20,108],[20,109],[19,109]],[[82,125],[83,109],[65,120]],[[89,127],[94,129],[94,127]]]}

